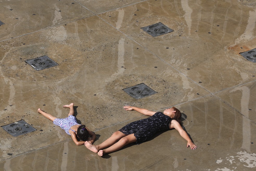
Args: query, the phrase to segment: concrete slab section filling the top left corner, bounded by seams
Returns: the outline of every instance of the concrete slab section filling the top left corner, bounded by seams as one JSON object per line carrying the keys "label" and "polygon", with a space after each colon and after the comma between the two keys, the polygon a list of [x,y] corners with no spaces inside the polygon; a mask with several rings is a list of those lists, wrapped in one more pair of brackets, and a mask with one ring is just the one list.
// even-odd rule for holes
{"label": "concrete slab section filling the top left corner, bounded by seams", "polygon": [[75,1],[1,1],[1,41],[94,14]]}

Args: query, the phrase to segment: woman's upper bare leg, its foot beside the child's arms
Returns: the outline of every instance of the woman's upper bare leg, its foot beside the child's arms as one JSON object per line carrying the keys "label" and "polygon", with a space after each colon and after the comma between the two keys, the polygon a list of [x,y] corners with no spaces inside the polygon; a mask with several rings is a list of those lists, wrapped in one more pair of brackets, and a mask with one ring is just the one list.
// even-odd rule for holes
{"label": "woman's upper bare leg, its foot beside the child's arms", "polygon": [[101,143],[99,145],[94,146],[86,141],[85,146],[92,152],[98,153],[99,150],[112,146],[114,143],[116,143],[118,140],[120,140],[121,138],[123,138],[125,136],[127,136],[127,135],[121,133],[120,131],[116,131],[111,135],[111,137],[109,137],[106,141],[104,141],[103,143]]}

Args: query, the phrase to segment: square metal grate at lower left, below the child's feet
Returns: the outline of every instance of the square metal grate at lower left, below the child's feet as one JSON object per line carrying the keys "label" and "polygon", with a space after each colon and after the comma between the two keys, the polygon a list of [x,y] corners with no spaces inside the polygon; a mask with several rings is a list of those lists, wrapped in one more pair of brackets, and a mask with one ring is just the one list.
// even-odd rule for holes
{"label": "square metal grate at lower left, below the child's feet", "polygon": [[23,135],[36,130],[24,120],[20,120],[18,122],[14,122],[9,125],[5,125],[1,127],[12,136]]}

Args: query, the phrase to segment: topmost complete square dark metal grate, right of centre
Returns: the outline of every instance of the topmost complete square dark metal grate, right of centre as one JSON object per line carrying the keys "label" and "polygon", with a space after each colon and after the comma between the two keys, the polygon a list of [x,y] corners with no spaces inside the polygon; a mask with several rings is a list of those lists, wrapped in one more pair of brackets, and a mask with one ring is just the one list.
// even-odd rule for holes
{"label": "topmost complete square dark metal grate, right of centre", "polygon": [[149,25],[147,27],[142,27],[141,29],[146,31],[148,34],[150,34],[153,37],[160,36],[173,31],[172,29],[166,27],[161,22]]}

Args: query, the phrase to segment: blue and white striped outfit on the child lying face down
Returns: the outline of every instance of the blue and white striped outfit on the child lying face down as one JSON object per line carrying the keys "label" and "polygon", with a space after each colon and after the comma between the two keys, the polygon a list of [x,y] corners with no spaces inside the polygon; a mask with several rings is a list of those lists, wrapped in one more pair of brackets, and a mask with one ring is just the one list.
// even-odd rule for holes
{"label": "blue and white striped outfit on the child lying face down", "polygon": [[[73,115],[69,115],[68,117],[66,118],[62,118],[62,119],[54,119],[53,123],[59,127],[61,127],[62,129],[65,130],[65,132],[69,134],[69,129],[74,126],[74,125],[80,125],[76,122],[76,119],[75,119],[75,116]],[[72,129],[71,129],[72,130]],[[74,131],[74,130],[72,130]],[[75,131],[74,131],[75,132]]]}

